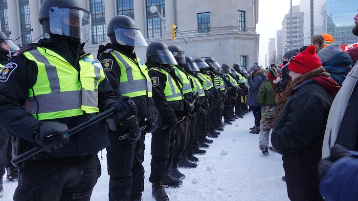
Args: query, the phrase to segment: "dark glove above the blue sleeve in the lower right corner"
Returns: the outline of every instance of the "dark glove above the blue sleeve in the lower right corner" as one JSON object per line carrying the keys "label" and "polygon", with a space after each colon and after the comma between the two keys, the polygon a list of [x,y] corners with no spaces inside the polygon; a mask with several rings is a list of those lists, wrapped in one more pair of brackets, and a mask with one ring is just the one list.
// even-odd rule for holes
{"label": "dark glove above the blue sleeve in the lower right corner", "polygon": [[335,144],[331,148],[331,155],[328,158],[321,159],[320,162],[318,163],[318,171],[320,172],[320,179],[322,180],[327,170],[335,161],[338,161],[339,159],[347,156],[352,156],[352,154],[349,153],[345,147],[339,144]]}

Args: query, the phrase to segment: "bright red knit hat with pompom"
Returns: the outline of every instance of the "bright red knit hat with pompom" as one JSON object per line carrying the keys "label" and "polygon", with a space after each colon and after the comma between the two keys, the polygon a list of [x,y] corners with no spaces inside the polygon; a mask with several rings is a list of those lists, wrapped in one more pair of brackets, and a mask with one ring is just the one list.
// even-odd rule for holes
{"label": "bright red knit hat with pompom", "polygon": [[316,54],[315,45],[309,45],[305,51],[289,61],[288,70],[304,74],[320,66],[322,66],[322,64]]}

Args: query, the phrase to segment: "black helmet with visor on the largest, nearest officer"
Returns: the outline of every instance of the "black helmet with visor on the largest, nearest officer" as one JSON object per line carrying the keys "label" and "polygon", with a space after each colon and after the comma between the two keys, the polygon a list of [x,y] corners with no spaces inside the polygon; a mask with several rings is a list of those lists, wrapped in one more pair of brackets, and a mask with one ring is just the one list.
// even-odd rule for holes
{"label": "black helmet with visor on the largest, nearest officer", "polygon": [[91,13],[77,0],[44,0],[38,21],[45,32],[88,42],[91,38]]}

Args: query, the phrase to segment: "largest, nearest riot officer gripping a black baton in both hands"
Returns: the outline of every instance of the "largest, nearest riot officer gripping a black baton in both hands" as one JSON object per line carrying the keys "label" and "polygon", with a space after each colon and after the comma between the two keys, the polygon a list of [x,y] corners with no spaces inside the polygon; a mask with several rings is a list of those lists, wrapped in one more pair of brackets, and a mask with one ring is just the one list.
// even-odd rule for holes
{"label": "largest, nearest riot officer gripping a black baton in both hands", "polygon": [[101,174],[97,154],[109,145],[106,121],[66,134],[113,107],[110,118],[135,118],[136,107],[117,101],[100,63],[83,51],[91,14],[79,1],[44,0],[39,22],[50,38],[21,48],[0,78],[0,127],[21,139],[17,154],[44,150],[20,164],[13,199],[89,200]]}

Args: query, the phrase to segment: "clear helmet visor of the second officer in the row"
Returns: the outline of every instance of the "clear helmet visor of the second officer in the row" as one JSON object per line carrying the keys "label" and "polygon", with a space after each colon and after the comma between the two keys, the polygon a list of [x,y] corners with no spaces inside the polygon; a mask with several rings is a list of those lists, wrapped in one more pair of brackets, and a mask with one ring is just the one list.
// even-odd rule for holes
{"label": "clear helmet visor of the second officer in the row", "polygon": [[126,29],[115,27],[115,35],[118,44],[128,46],[142,46],[147,47],[142,32],[138,29]]}

